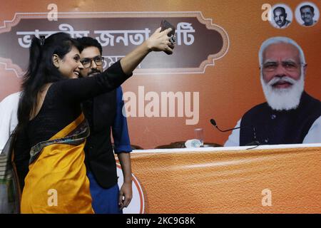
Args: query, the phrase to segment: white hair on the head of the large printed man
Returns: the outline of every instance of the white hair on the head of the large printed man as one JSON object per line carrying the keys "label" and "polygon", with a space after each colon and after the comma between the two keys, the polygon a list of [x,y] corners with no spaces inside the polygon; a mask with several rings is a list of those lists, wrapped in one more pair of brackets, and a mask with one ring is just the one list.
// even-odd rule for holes
{"label": "white hair on the head of the large printed man", "polygon": [[260,66],[262,66],[263,64],[263,52],[265,51],[265,49],[272,45],[272,44],[276,44],[276,43],[290,43],[293,46],[295,46],[297,48],[297,50],[299,50],[300,53],[300,62],[302,64],[306,64],[305,62],[305,53],[303,52],[302,48],[300,47],[300,45],[297,44],[297,42],[293,41],[292,38],[288,38],[285,36],[275,36],[272,38],[268,38],[267,40],[265,40],[261,47],[260,47],[260,51],[259,51],[259,62],[260,62]]}

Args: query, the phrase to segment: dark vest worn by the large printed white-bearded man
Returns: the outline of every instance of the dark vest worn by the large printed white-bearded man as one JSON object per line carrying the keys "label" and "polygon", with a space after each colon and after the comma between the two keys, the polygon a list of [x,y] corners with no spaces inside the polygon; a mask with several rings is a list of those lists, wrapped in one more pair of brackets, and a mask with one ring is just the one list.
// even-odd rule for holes
{"label": "dark vest worn by the large printed white-bearded man", "polygon": [[321,115],[321,102],[303,92],[296,109],[272,110],[267,103],[250,109],[240,123],[240,145],[258,140],[260,144],[302,143]]}

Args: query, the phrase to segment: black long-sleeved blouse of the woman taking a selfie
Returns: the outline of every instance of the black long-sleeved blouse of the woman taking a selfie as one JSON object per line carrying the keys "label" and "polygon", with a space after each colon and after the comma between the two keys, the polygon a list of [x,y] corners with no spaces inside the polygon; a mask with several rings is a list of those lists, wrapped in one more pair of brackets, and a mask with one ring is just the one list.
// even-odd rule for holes
{"label": "black long-sleeved blouse of the woman taking a selfie", "polygon": [[32,146],[49,140],[76,120],[81,114],[81,103],[84,100],[114,90],[131,76],[132,73],[129,76],[123,73],[118,61],[97,76],[53,83],[46,93],[39,113],[16,138],[14,160],[21,185],[24,185],[24,177],[28,172],[29,152]]}

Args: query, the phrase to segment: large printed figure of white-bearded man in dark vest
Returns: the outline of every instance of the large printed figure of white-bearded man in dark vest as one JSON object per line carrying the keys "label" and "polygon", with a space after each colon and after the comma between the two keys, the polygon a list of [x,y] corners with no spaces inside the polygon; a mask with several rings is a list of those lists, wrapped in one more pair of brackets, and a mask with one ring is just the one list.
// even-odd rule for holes
{"label": "large printed figure of white-bearded man in dark vest", "polygon": [[258,57],[266,102],[238,120],[241,130],[233,130],[225,146],[317,142],[321,103],[305,91],[307,61],[300,45],[288,37],[268,38]]}

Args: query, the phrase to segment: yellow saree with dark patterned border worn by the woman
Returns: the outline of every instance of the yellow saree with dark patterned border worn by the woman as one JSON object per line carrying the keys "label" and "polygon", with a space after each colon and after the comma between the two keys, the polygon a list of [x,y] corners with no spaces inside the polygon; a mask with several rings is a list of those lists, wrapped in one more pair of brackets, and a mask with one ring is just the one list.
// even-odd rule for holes
{"label": "yellow saree with dark patterned border worn by the woman", "polygon": [[83,151],[88,135],[81,114],[50,140],[31,148],[21,213],[93,213]]}

